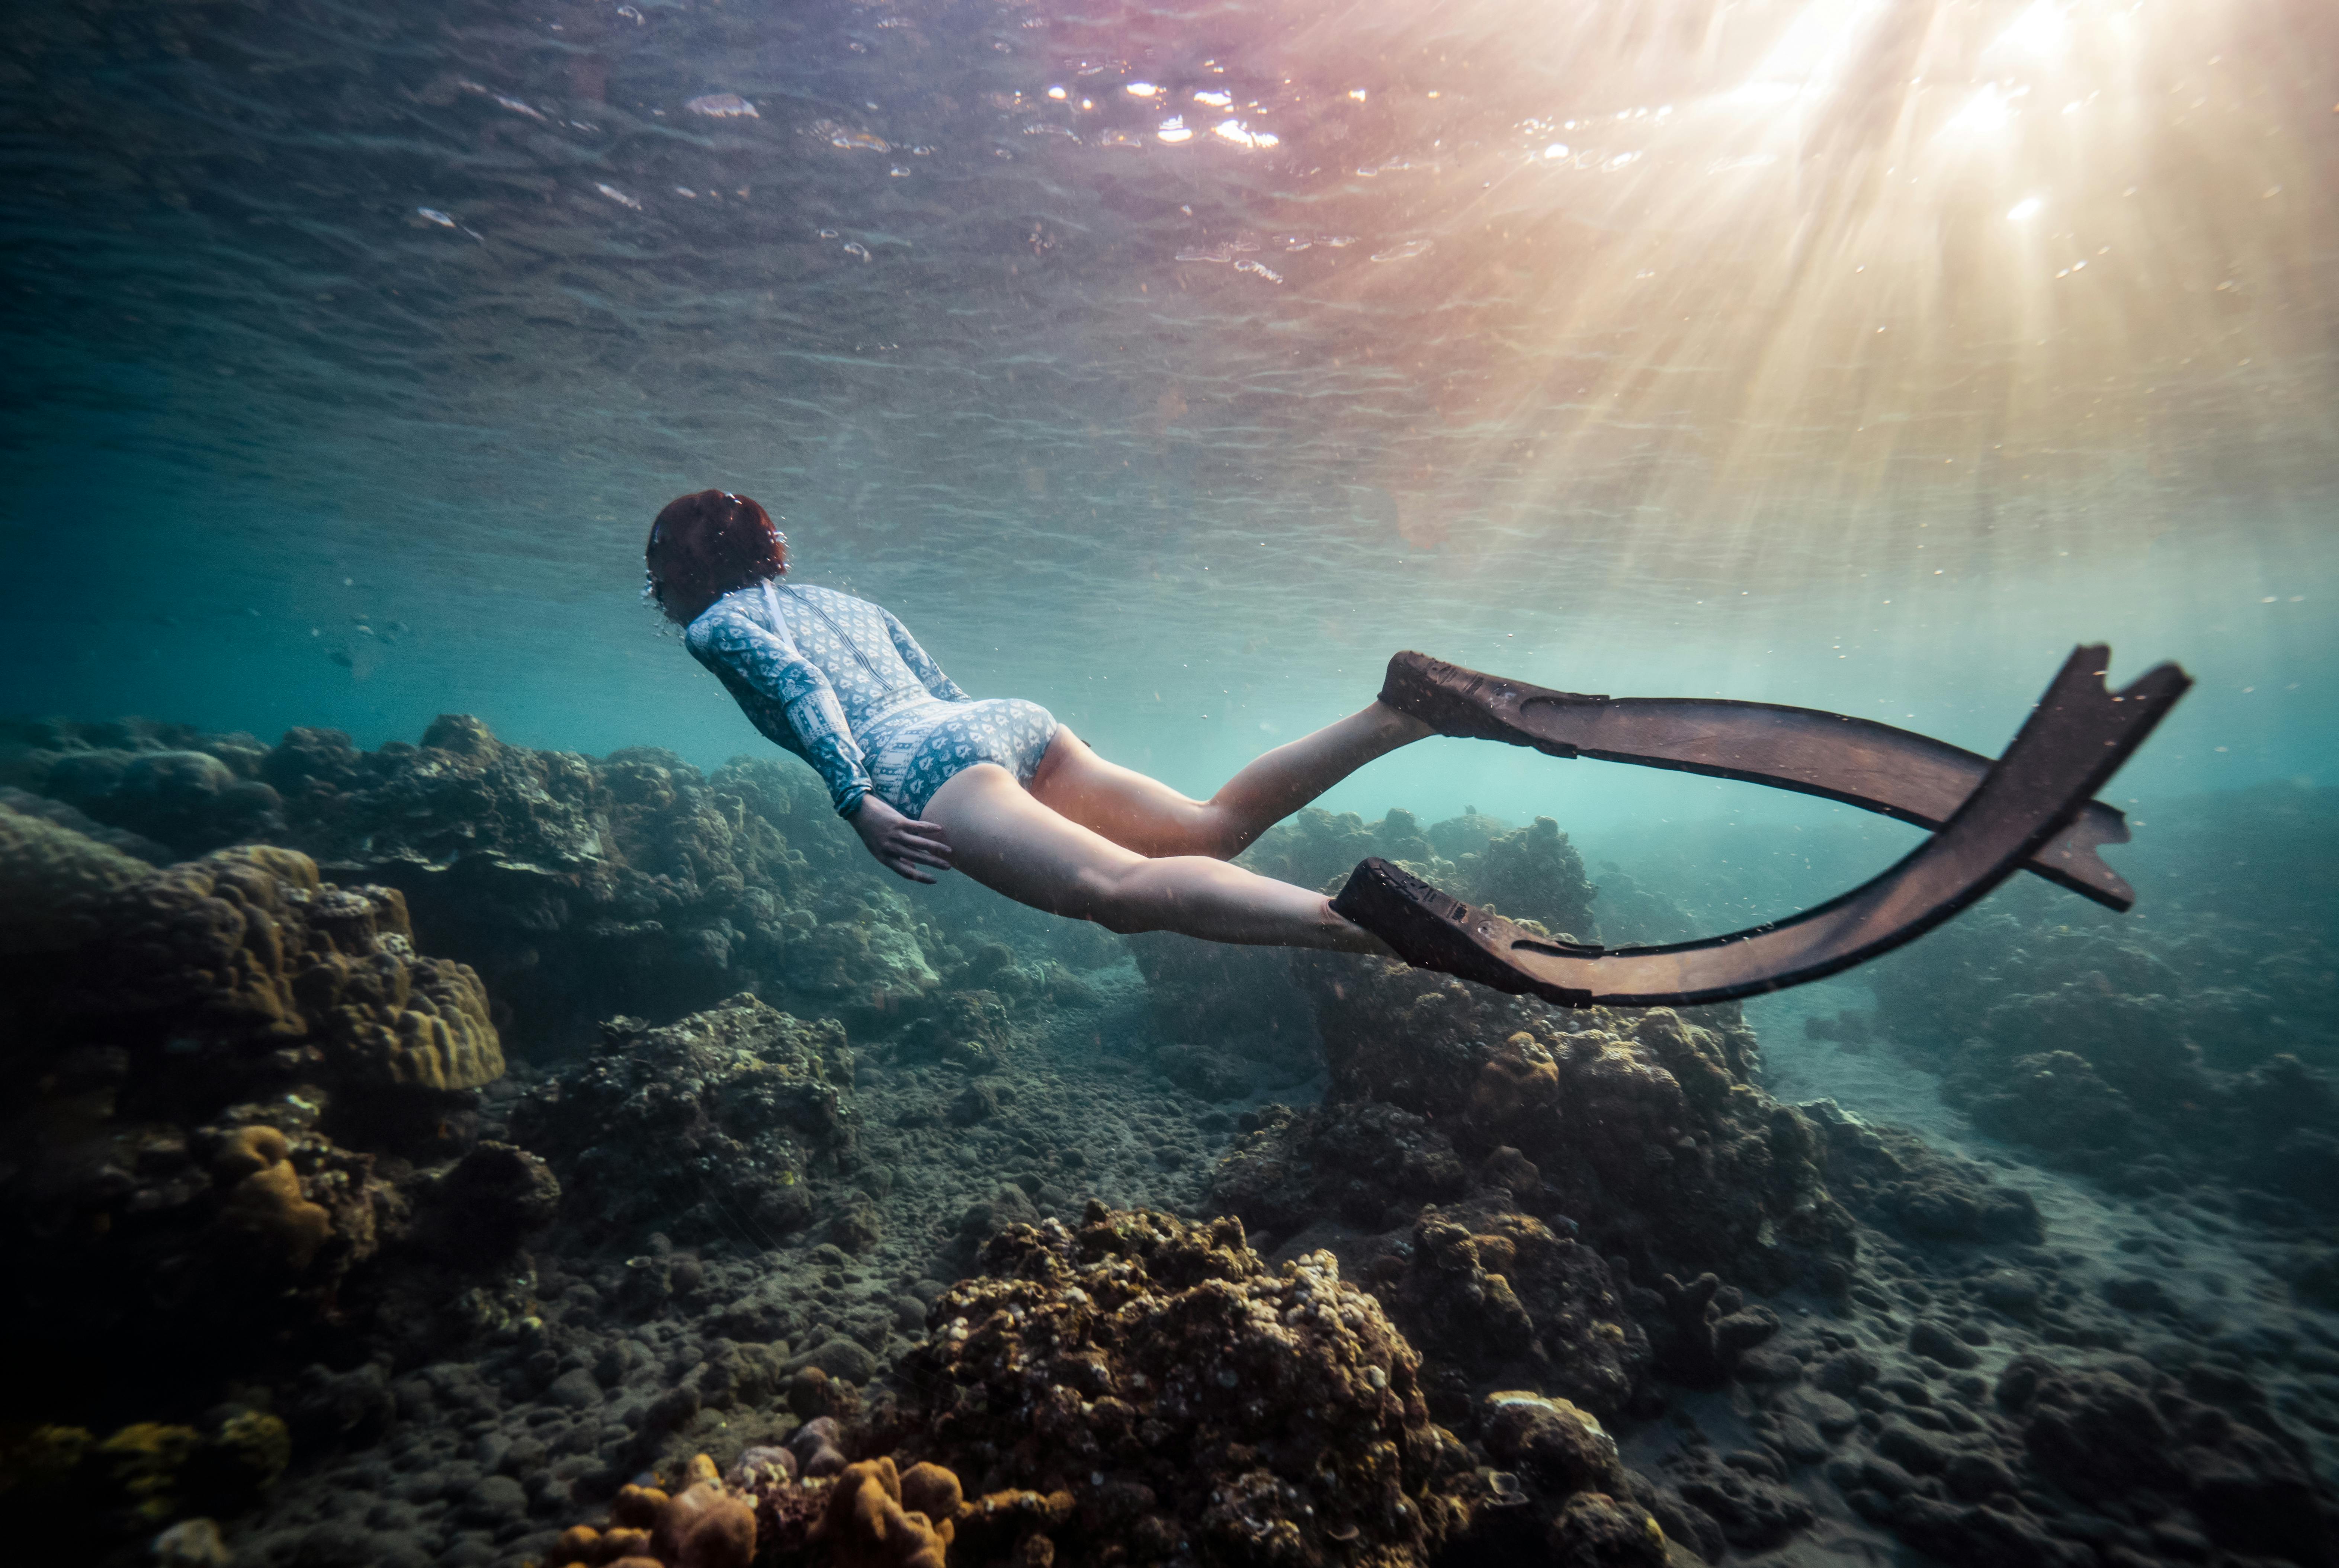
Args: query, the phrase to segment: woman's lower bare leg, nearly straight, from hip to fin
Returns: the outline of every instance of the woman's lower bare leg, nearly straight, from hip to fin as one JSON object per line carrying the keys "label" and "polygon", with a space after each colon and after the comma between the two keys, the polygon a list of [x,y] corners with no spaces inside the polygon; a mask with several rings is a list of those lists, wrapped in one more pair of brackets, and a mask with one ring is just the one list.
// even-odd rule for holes
{"label": "woman's lower bare leg, nearly straight, from hip to fin", "polygon": [[950,835],[952,866],[985,887],[1109,931],[1387,953],[1378,936],[1333,915],[1324,894],[1202,854],[1148,859],[1064,819],[996,763],[933,791],[924,819]]}

